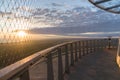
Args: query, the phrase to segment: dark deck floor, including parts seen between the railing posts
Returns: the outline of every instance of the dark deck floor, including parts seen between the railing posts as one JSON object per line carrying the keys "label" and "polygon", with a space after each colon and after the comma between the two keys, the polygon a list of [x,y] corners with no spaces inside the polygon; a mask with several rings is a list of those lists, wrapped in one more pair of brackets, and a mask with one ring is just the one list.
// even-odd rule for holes
{"label": "dark deck floor, including parts seen between the railing posts", "polygon": [[[120,68],[116,63],[116,49],[105,49],[88,54],[70,68],[70,74],[65,74],[65,80],[120,80]],[[53,60],[54,68],[57,60]],[[36,64],[30,70],[31,80],[47,80],[46,63]],[[64,65],[63,65],[64,66]],[[54,69],[57,80],[57,68]]]}

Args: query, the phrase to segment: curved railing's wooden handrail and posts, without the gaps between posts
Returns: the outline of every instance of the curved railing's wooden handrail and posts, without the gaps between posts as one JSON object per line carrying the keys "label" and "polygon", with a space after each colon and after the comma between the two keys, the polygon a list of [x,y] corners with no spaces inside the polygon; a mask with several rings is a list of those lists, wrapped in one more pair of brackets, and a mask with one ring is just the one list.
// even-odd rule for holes
{"label": "curved railing's wooden handrail and posts, without the gaps between posts", "polygon": [[[100,44],[101,45],[100,45]],[[69,73],[69,65],[74,65],[74,61],[78,61],[78,56],[81,58],[81,56],[84,56],[88,53],[93,53],[94,51],[97,51],[98,49],[107,48],[109,41],[107,39],[93,39],[93,40],[81,40],[81,41],[71,41],[62,43],[53,47],[50,47],[48,49],[42,50],[40,52],[37,52],[23,60],[20,60],[10,66],[7,66],[0,70],[0,80],[13,80],[14,77],[21,77],[20,80],[29,80],[29,67],[38,62],[42,58],[47,59],[47,80],[54,80],[53,79],[53,62],[52,62],[52,52],[54,50],[57,50],[58,55],[58,74],[59,78],[61,78],[63,75],[63,72]],[[64,49],[62,49],[64,47]],[[110,45],[108,46],[110,47]],[[60,65],[63,65],[62,61],[62,50],[65,52],[65,71],[63,70],[63,67]],[[75,54],[75,55],[73,55]],[[68,56],[70,55],[70,57]],[[73,57],[75,56],[75,57]],[[69,63],[69,58],[71,59]],[[75,58],[75,59],[74,59]],[[16,76],[20,73],[19,76]],[[26,75],[26,76],[24,76]],[[58,79],[61,80],[61,79]]]}

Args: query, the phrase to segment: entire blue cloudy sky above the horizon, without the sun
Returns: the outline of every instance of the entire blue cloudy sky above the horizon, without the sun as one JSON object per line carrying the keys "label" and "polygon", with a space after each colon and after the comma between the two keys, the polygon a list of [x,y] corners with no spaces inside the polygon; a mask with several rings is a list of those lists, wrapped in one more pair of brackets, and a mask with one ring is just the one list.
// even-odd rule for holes
{"label": "entire blue cloudy sky above the horizon, without the sun", "polygon": [[[102,6],[119,3],[111,1]],[[98,9],[88,0],[0,0],[1,35],[24,30],[32,34],[119,36],[119,21],[120,15]]]}

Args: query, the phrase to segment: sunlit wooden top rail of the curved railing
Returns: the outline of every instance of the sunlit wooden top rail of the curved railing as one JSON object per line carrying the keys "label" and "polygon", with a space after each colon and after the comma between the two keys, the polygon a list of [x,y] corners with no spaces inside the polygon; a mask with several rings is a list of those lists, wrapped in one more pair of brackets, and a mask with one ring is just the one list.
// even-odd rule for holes
{"label": "sunlit wooden top rail of the curved railing", "polygon": [[0,80],[6,80],[6,79],[12,77],[17,72],[23,70],[26,67],[29,67],[31,64],[34,64],[41,57],[45,57],[49,52],[53,51],[54,49],[61,47],[63,45],[66,45],[66,44],[73,43],[73,42],[75,42],[75,41],[58,44],[56,46],[53,46],[48,49],[37,52],[25,59],[22,59],[14,64],[8,66],[8,67],[5,67],[4,69],[0,70]]}

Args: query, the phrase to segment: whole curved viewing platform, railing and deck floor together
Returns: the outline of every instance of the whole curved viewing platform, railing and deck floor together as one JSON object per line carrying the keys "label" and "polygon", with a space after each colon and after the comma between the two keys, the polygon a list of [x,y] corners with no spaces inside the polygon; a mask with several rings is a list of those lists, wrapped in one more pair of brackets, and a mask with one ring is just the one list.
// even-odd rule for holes
{"label": "whole curved viewing platform, railing and deck floor together", "polygon": [[117,46],[118,39],[59,44],[1,69],[0,80],[120,80]]}

